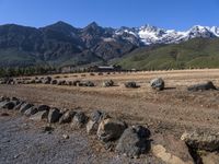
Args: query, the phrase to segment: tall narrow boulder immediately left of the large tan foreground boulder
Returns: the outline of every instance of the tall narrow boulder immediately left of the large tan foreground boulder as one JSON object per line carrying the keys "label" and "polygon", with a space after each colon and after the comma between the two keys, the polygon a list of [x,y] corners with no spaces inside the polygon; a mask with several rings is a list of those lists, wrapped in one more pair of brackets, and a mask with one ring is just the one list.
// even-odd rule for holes
{"label": "tall narrow boulder immediately left of the large tan foreground boulder", "polygon": [[102,119],[108,117],[105,113],[95,110],[91,114],[91,118],[89,119],[89,122],[87,124],[87,132],[88,133],[96,133],[99,129],[99,125]]}

